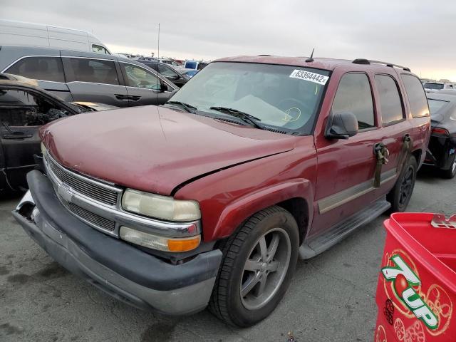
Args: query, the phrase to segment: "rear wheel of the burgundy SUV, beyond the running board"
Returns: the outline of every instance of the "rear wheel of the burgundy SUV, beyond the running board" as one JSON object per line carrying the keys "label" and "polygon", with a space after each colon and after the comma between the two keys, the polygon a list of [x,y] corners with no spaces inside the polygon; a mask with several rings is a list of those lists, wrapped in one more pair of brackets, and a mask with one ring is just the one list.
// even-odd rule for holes
{"label": "rear wheel of the burgundy SUV, beyond the running board", "polygon": [[418,163],[415,157],[410,155],[393,189],[386,195],[386,199],[391,203],[390,212],[404,212],[407,209],[415,187],[417,170]]}

